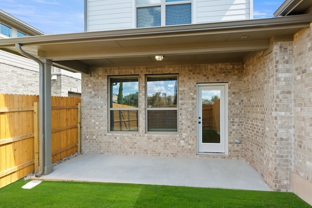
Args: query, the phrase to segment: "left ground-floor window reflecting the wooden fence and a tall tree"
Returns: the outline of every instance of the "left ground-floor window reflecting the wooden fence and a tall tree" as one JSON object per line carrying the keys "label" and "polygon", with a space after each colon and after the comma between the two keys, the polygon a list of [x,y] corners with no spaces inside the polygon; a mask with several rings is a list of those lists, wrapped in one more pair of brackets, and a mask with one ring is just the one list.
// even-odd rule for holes
{"label": "left ground-floor window reflecting the wooden fence and a tall tree", "polygon": [[138,77],[111,77],[110,131],[138,131]]}

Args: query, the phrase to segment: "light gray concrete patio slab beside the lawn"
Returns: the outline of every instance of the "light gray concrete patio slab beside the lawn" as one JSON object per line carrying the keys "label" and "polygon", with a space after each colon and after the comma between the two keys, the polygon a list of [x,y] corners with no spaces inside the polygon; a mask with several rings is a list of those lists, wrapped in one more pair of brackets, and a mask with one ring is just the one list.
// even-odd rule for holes
{"label": "light gray concrete patio slab beside the lawn", "polygon": [[244,160],[81,154],[37,180],[270,190]]}

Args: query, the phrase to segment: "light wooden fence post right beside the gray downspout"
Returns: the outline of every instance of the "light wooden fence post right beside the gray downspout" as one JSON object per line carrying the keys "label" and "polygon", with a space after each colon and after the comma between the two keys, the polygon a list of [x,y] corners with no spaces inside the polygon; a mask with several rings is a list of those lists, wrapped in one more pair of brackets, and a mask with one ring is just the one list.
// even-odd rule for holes
{"label": "light wooden fence post right beside the gray downspout", "polygon": [[35,173],[39,172],[39,103],[34,103]]}

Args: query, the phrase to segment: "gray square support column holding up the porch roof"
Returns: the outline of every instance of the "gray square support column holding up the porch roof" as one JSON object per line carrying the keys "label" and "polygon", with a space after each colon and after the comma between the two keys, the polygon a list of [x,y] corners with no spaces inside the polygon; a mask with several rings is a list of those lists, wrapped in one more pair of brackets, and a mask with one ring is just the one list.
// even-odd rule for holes
{"label": "gray square support column holding up the porch roof", "polygon": [[52,61],[40,59],[42,67],[39,69],[39,135],[42,139],[44,150],[43,174],[53,172],[52,141],[51,141],[51,66]]}

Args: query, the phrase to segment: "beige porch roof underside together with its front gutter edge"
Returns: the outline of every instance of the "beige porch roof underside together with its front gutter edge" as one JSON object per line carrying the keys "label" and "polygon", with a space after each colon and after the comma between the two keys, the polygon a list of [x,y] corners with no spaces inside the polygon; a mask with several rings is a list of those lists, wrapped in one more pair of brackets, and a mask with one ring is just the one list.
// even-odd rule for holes
{"label": "beige porch roof underside together with its front gutter edge", "polygon": [[[0,40],[0,49],[50,59],[56,66],[88,74],[91,67],[242,62],[269,48],[270,39],[292,39],[312,15],[253,19]],[[156,61],[155,55],[163,55]]]}

